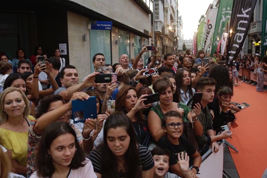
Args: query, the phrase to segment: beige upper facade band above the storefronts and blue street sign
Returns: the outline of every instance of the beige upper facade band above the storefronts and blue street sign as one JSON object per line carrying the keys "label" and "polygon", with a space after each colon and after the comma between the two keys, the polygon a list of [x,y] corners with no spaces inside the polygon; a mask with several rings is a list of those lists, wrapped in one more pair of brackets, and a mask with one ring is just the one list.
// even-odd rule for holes
{"label": "beige upper facade band above the storefronts and blue street sign", "polygon": [[150,17],[134,0],[71,0],[144,33],[151,32]]}

